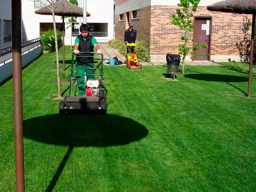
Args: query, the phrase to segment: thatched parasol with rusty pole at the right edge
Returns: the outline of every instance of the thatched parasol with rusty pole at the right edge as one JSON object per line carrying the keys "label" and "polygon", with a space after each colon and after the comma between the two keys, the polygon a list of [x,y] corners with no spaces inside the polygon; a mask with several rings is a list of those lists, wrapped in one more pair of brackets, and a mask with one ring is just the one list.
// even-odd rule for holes
{"label": "thatched parasol with rusty pole at the right edge", "polygon": [[254,44],[254,26],[256,14],[256,0],[226,0],[208,5],[207,9],[210,11],[252,14],[252,36],[251,36],[251,52],[250,52],[250,67],[249,67],[249,81],[247,97],[251,94],[252,81],[252,60],[253,60],[253,44]]}

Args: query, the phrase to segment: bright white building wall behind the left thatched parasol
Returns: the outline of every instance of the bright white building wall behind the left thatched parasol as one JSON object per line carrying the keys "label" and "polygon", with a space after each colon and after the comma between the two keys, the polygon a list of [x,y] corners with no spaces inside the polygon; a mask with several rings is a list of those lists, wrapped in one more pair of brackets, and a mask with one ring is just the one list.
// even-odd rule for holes
{"label": "bright white building wall behind the left thatched parasol", "polygon": [[[0,0],[4,1],[4,0]],[[83,6],[83,1],[82,1]],[[87,17],[87,23],[108,23],[108,39],[113,39],[113,18],[114,18],[114,2],[113,0],[87,0],[87,12],[91,14]],[[52,23],[51,15],[39,15],[36,14],[34,8],[34,2],[30,0],[22,0],[22,24],[24,27],[23,33],[26,33],[27,40],[35,39],[39,37],[40,22]],[[65,23],[67,19],[64,20]],[[83,21],[83,19],[82,19]],[[62,23],[60,16],[55,16],[56,23]],[[77,18],[79,22],[79,18]],[[71,28],[66,27],[65,30],[67,39],[65,38],[65,44],[70,45]],[[97,39],[97,38],[96,38]]]}

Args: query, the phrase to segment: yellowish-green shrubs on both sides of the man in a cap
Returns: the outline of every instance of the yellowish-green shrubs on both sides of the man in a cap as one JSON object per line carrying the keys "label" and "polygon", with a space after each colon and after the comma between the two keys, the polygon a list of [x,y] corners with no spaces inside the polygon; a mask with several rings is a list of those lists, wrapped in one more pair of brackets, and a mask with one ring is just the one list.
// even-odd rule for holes
{"label": "yellowish-green shrubs on both sides of the man in a cap", "polygon": [[[136,54],[139,62],[149,62],[150,55],[145,41],[136,40]],[[112,39],[108,42],[108,45],[112,48],[117,49],[121,54],[126,55],[126,45],[124,41]]]}

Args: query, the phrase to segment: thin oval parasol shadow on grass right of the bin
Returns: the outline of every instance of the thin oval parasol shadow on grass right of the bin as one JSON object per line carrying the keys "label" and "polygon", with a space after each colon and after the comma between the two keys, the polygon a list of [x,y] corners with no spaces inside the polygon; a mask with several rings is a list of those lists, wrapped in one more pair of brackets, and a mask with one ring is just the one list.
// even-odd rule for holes
{"label": "thin oval parasol shadow on grass right of the bin", "polygon": [[235,85],[231,84],[230,82],[238,83],[238,82],[248,82],[247,77],[242,76],[234,76],[234,75],[221,75],[221,74],[187,74],[184,77],[201,80],[201,81],[215,81],[215,82],[225,82],[242,93],[247,97],[247,93],[241,90],[240,88],[236,87]]}

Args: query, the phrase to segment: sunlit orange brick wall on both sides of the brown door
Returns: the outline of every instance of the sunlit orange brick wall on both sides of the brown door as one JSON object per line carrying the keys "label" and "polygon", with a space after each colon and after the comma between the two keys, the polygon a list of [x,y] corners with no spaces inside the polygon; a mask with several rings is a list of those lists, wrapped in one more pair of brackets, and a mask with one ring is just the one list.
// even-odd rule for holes
{"label": "sunlit orange brick wall on both sides of the brown door", "polygon": [[[175,14],[177,8],[174,6],[151,7],[151,34],[156,35],[153,35],[150,40],[150,54],[161,54],[162,50],[175,54],[178,52],[180,36],[184,35],[184,32],[171,24],[172,14]],[[246,35],[244,33],[245,23],[252,21],[251,15],[210,12],[206,7],[198,7],[194,16],[212,16],[212,55],[239,55],[238,45],[246,44],[246,40],[251,38],[251,28],[247,29]],[[192,37],[193,33],[189,35]],[[247,46],[245,54],[249,54],[248,42],[245,46]]]}

